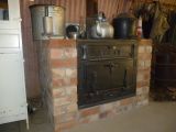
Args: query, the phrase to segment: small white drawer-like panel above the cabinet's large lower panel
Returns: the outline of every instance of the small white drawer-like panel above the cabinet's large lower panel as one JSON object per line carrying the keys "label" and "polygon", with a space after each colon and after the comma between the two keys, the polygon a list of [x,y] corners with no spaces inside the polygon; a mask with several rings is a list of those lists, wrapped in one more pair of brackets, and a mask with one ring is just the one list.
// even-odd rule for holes
{"label": "small white drawer-like panel above the cabinet's large lower panel", "polygon": [[14,48],[20,46],[19,35],[16,34],[0,34],[0,48]]}

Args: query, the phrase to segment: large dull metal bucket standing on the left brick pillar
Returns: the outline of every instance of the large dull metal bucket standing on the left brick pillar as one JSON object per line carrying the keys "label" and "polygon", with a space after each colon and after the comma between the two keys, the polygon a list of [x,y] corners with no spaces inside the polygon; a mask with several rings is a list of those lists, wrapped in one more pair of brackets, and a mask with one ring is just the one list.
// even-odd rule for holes
{"label": "large dull metal bucket standing on the left brick pillar", "polygon": [[[46,15],[46,9],[47,15]],[[65,36],[65,9],[58,6],[35,4],[30,7],[32,31],[34,40],[48,40],[50,37]],[[52,24],[44,23],[44,18],[52,18]],[[52,25],[53,33],[45,33],[46,25]]]}

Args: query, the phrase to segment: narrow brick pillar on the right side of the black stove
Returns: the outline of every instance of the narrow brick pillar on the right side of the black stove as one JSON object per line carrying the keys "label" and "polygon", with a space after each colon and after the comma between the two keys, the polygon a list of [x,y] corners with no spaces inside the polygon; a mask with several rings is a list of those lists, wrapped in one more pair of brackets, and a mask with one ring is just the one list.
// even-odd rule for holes
{"label": "narrow brick pillar on the right side of the black stove", "polygon": [[136,101],[138,105],[148,103],[148,91],[151,80],[152,41],[141,40],[138,51],[138,77],[136,77]]}

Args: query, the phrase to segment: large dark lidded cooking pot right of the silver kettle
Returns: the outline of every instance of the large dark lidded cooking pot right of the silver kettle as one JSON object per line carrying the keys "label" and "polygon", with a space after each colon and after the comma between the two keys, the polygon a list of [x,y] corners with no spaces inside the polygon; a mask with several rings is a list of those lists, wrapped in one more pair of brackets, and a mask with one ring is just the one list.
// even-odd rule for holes
{"label": "large dark lidded cooking pot right of the silver kettle", "polygon": [[130,13],[121,13],[113,19],[114,38],[135,38],[138,19]]}

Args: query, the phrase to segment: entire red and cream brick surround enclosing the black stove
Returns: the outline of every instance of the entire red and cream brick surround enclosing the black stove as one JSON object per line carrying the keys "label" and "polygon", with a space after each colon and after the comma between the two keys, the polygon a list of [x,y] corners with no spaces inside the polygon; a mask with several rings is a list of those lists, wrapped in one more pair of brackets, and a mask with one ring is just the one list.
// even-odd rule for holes
{"label": "entire red and cream brick surround enclosing the black stove", "polygon": [[78,110],[77,51],[74,40],[50,40],[38,47],[43,97],[54,132],[89,123],[148,103],[152,41],[139,41],[136,96]]}

